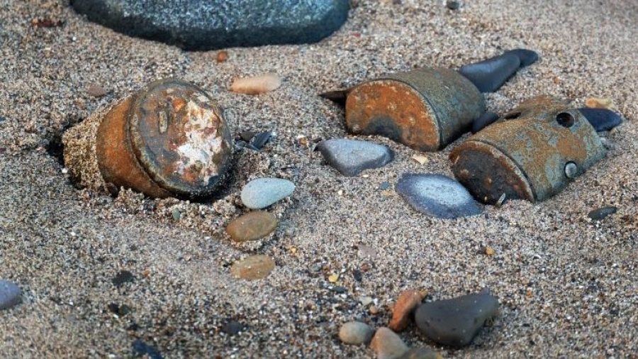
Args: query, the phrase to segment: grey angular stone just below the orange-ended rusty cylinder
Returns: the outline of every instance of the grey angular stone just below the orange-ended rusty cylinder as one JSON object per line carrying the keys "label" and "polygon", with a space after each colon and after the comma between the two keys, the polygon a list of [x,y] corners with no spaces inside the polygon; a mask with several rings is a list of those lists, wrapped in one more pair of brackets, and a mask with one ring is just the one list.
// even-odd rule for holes
{"label": "grey angular stone just below the orange-ended rusty cylinder", "polygon": [[392,150],[387,146],[345,138],[325,140],[317,148],[328,165],[348,177],[356,176],[363,170],[387,165],[394,158]]}

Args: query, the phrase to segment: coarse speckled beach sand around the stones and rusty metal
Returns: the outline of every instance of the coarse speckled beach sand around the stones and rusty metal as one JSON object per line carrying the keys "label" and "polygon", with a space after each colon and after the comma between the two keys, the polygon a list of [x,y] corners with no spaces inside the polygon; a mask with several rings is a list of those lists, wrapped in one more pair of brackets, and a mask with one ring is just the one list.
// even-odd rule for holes
{"label": "coarse speckled beach sand around the stones and rusty metal", "polygon": [[[33,18],[64,23],[37,28]],[[426,290],[431,300],[489,287],[500,311],[470,346],[436,346],[413,325],[401,337],[449,358],[635,358],[636,18],[638,2],[626,0],[468,0],[457,11],[444,1],[355,0],[345,26],[320,43],[230,48],[218,63],[217,51],[115,33],[65,1],[0,0],[0,278],[23,289],[22,304],[0,312],[0,356],[130,358],[140,338],[164,358],[374,358],[366,346],[340,343],[341,324],[386,326],[403,289]],[[405,172],[451,176],[447,156],[462,139],[419,165],[415,150],[357,137],[396,154],[357,177],[297,140],[347,136],[343,110],[320,92],[512,48],[541,60],[486,95],[488,110],[503,113],[537,94],[574,106],[595,96],[613,99],[626,119],[607,136],[607,158],[552,199],[433,219],[379,185]],[[266,72],[284,78],[276,91],[228,91],[233,79]],[[233,133],[274,138],[260,153],[237,153],[228,184],[209,201],[78,189],[60,161],[65,129],[169,76],[218,99]],[[107,96],[89,96],[90,84]],[[240,189],[258,177],[289,179],[296,191],[269,209],[279,219],[272,236],[232,243],[225,226],[246,211]],[[587,218],[602,206],[618,211]],[[495,253],[485,255],[487,247]],[[252,254],[274,258],[272,274],[232,277],[230,265]],[[135,279],[116,287],[122,270]],[[374,300],[376,315],[359,297]],[[228,321],[247,328],[230,336],[221,330]]]}

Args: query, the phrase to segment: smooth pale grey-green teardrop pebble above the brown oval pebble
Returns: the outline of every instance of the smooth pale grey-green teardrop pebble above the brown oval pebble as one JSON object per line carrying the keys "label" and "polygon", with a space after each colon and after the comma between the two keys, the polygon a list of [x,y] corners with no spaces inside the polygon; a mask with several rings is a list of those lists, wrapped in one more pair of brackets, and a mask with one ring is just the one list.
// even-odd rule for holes
{"label": "smooth pale grey-green teardrop pebble above the brown oval pebble", "polygon": [[281,178],[258,178],[242,189],[242,202],[250,209],[262,209],[284,199],[295,190],[295,184]]}

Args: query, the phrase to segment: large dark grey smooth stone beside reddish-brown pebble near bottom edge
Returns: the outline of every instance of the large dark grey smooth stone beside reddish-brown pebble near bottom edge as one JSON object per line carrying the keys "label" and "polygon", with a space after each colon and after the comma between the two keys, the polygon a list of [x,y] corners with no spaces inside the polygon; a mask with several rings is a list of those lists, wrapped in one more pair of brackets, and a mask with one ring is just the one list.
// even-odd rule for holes
{"label": "large dark grey smooth stone beside reddish-brown pebble near bottom edge", "polygon": [[498,309],[498,297],[469,294],[421,304],[415,323],[428,338],[444,346],[466,346]]}

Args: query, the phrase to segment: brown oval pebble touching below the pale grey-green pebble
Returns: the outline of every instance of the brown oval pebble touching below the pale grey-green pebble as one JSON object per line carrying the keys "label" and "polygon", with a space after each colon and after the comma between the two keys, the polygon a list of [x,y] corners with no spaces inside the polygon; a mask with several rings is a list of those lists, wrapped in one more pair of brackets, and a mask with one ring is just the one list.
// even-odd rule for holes
{"label": "brown oval pebble touching below the pale grey-green pebble", "polygon": [[277,228],[277,218],[265,211],[252,211],[228,223],[226,233],[235,242],[256,241]]}

